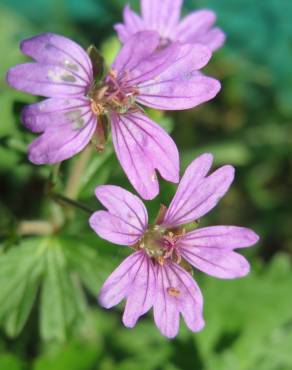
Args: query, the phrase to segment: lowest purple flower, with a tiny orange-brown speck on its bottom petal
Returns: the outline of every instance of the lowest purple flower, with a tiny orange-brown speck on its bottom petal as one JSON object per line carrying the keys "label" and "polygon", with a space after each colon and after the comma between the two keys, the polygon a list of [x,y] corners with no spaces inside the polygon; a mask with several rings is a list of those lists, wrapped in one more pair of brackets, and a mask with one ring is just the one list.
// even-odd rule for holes
{"label": "lowest purple flower, with a tiny orange-brown speck on its bottom petal", "polygon": [[99,302],[111,308],[126,300],[123,322],[133,327],[153,307],[161,333],[177,335],[182,314],[190,330],[203,328],[203,299],[192,278],[191,265],[222,279],[245,276],[247,260],[234,252],[258,241],[250,229],[213,226],[188,232],[186,226],[208,213],[228,190],[234,169],[223,166],[207,176],[212,156],[194,160],[181,179],[177,192],[154,225],[135,195],[117,186],[99,186],[96,196],[107,211],[98,211],[90,225],[103,239],[135,250],[110,275],[101,288]]}

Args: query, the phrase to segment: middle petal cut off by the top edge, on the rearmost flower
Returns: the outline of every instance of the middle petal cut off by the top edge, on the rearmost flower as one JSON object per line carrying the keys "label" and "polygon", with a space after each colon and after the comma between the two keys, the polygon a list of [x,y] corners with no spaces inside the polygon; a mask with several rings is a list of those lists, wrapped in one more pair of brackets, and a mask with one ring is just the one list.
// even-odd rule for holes
{"label": "middle petal cut off by the top edge, on the rearmost flower", "polygon": [[163,38],[172,38],[181,6],[182,0],[142,0],[142,18],[148,29],[158,31]]}

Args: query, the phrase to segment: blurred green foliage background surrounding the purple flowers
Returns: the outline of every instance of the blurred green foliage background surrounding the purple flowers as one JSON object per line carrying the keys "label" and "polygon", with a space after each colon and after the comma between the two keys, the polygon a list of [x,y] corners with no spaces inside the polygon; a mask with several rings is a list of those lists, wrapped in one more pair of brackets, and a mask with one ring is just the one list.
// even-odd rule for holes
{"label": "blurred green foliage background surrounding the purple flowers", "polygon": [[[138,1],[130,1],[138,9]],[[34,137],[19,113],[35,97],[5,84],[5,72],[25,58],[19,41],[56,32],[85,48],[95,44],[107,61],[119,44],[113,24],[119,0],[0,0],[0,369],[1,370],[289,370],[292,369],[292,2],[291,0],[187,0],[184,13],[214,9],[226,45],[207,71],[222,81],[212,102],[186,112],[149,112],[172,132],[185,167],[210,151],[216,166],[236,166],[228,195],[202,224],[245,225],[261,242],[243,253],[252,264],[244,279],[220,281],[195,272],[204,297],[206,327],[182,325],[172,341],[152,314],[137,326],[121,324],[122,307],[98,308],[96,295],[129,253],[101,241],[81,211],[52,237],[21,238],[22,220],[58,217],[46,195],[49,166],[28,162]],[[76,159],[61,166],[62,191]],[[98,208],[97,184],[130,189],[111,144],[94,155],[82,175],[78,200]],[[161,181],[155,214],[174,187]]]}

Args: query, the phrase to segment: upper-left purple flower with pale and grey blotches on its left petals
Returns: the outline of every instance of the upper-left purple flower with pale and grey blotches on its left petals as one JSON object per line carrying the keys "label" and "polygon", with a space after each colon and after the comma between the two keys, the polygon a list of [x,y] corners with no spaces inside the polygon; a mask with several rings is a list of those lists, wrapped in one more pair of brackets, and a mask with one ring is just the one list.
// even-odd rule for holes
{"label": "upper-left purple flower with pale and grey blotches on its left petals", "polygon": [[156,170],[168,181],[179,180],[175,143],[138,103],[176,110],[212,99],[220,90],[217,80],[199,74],[211,57],[201,45],[156,51],[159,35],[137,33],[121,49],[108,75],[95,81],[92,63],[75,42],[42,34],[21,43],[36,63],[11,68],[8,83],[48,99],[27,106],[22,121],[42,133],[29,147],[35,164],[68,159],[102,131],[108,116],[117,157],[137,192],[145,199],[159,192]]}

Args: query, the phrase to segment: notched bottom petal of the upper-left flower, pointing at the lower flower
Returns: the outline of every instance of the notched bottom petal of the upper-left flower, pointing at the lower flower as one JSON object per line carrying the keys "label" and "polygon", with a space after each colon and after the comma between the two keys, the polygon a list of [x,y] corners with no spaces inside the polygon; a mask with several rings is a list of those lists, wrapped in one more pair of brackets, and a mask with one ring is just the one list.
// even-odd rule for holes
{"label": "notched bottom petal of the upper-left flower, pointing at the lower flower", "polygon": [[144,199],[159,192],[155,169],[171,182],[179,180],[179,154],[171,137],[140,112],[111,114],[117,157],[131,184]]}

